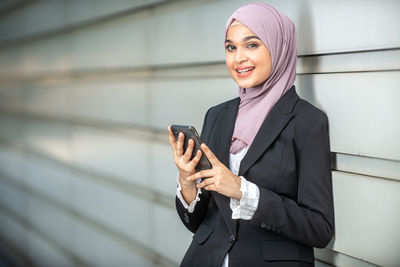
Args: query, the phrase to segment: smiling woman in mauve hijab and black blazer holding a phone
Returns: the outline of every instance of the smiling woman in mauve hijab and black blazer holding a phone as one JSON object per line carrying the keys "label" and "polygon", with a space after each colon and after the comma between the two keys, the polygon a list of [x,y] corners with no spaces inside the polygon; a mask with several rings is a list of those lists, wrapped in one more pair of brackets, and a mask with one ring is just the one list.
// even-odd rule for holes
{"label": "smiling woman in mauve hijab and black blazer holding a phone", "polygon": [[[181,133],[176,208],[194,233],[181,266],[313,266],[334,232],[327,116],[296,94],[293,22],[263,3],[225,28],[226,65],[239,97],[210,108],[195,173]],[[202,181],[200,178],[206,178]]]}

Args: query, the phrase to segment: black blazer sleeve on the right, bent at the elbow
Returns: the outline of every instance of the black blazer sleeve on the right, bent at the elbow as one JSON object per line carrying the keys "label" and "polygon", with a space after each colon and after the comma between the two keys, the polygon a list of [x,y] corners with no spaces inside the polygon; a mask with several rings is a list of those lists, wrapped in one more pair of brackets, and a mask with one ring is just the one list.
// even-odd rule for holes
{"label": "black blazer sleeve on the right, bent at the elbow", "polygon": [[258,208],[250,222],[322,248],[334,233],[334,211],[328,119],[325,114],[319,118],[309,130],[297,160],[297,201],[259,187]]}

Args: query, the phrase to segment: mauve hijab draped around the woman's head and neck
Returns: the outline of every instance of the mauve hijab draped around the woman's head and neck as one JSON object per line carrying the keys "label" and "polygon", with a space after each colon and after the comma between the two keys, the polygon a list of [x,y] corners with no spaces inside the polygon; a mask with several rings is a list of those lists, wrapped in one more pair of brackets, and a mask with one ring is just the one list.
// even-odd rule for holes
{"label": "mauve hijab draped around the woman's head and neck", "polygon": [[235,154],[253,142],[268,112],[296,78],[297,38],[294,23],[274,7],[253,2],[240,7],[228,19],[226,34],[237,20],[254,32],[271,54],[271,73],[251,88],[239,87],[240,104],[230,152]]}

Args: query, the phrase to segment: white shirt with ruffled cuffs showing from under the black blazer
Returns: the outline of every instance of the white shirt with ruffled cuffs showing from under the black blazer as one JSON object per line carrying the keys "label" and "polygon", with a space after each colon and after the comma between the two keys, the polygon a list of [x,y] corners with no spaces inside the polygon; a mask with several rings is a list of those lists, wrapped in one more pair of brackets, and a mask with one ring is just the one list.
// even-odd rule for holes
{"label": "white shirt with ruffled cuffs showing from under the black blazer", "polygon": [[[236,154],[229,154],[229,168],[233,174],[238,175],[240,162],[246,155],[248,149],[249,147],[246,146]],[[230,200],[229,206],[232,209],[232,219],[250,220],[253,217],[254,212],[257,210],[260,190],[258,189],[258,186],[256,184],[247,181],[243,176],[240,176],[240,179],[240,191],[242,192],[242,198],[240,200],[231,198]],[[200,200],[199,195],[201,194],[201,189],[197,190],[196,199],[188,205],[181,194],[182,188],[179,184],[179,175],[177,176],[177,180],[178,187],[176,190],[176,195],[182,202],[182,205],[191,213],[194,211],[196,203]],[[199,182],[200,179],[196,181],[196,183]],[[222,263],[222,267],[228,267],[228,265],[229,253],[226,254],[224,262]]]}

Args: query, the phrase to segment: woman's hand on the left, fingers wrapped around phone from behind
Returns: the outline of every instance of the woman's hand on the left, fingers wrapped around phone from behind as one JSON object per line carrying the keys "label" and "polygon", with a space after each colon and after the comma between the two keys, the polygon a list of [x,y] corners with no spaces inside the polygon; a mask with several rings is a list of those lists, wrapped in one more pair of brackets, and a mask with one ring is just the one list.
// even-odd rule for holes
{"label": "woman's hand on the left, fingers wrapped around phone from behind", "polygon": [[189,140],[188,147],[185,153],[183,153],[183,142],[185,140],[185,135],[180,132],[178,140],[176,140],[174,134],[172,133],[171,126],[168,126],[168,133],[169,143],[171,144],[174,156],[174,162],[179,171],[179,183],[181,184],[183,190],[185,188],[196,189],[196,181],[188,181],[186,178],[195,173],[196,165],[201,158],[201,150],[199,149],[196,152],[196,156],[190,160],[193,153],[194,141],[192,139]]}

